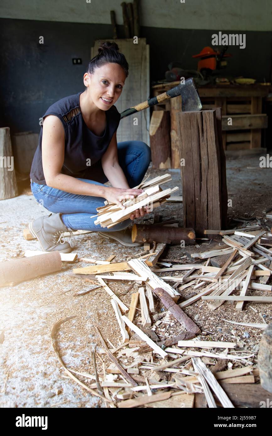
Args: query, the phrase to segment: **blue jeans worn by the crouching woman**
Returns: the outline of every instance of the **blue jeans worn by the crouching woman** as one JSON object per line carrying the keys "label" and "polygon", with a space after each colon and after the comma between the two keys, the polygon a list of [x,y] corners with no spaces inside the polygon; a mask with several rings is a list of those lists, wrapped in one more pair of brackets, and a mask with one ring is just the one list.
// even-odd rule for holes
{"label": "blue jeans worn by the crouching woman", "polygon": [[[124,171],[129,187],[133,188],[141,183],[148,169],[151,160],[150,148],[141,141],[125,141],[117,144],[117,150],[119,165]],[[107,182],[101,161],[95,165],[93,174],[94,180],[79,180],[96,185]],[[31,191],[38,203],[48,211],[61,213],[63,224],[72,230],[115,232],[128,227],[132,222],[131,219],[127,219],[109,229],[94,224],[96,217],[90,218],[90,216],[97,214],[96,208],[104,206],[105,198],[70,194],[33,181],[31,181]]]}

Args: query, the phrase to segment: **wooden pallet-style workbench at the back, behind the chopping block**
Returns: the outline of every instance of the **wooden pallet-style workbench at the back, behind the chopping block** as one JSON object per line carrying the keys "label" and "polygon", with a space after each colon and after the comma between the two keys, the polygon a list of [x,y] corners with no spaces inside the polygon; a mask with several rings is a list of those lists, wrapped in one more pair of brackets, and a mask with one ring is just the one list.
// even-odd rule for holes
{"label": "wooden pallet-style workbench at the back, behind the chopping block", "polygon": [[[157,96],[178,85],[167,82],[152,87],[153,96]],[[262,129],[268,125],[268,117],[262,113],[262,99],[267,97],[269,89],[263,85],[207,85],[199,86],[203,109],[221,107],[222,136],[224,150],[227,152],[244,150],[244,153],[265,152],[262,148]],[[171,119],[171,147],[176,148],[175,120],[181,110],[181,98],[176,97],[155,106],[154,110],[169,111]],[[246,151],[248,150],[248,151]],[[178,168],[178,159],[172,158],[172,168]]]}

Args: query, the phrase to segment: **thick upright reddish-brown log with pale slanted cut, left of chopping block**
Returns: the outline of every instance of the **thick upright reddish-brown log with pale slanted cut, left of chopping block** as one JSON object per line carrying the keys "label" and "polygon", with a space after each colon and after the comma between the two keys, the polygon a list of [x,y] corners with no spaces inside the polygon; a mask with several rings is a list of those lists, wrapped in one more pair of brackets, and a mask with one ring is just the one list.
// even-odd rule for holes
{"label": "thick upright reddish-brown log with pale slanted cut, left of chopping block", "polygon": [[156,169],[171,168],[169,111],[154,110],[152,112],[149,136],[152,167]]}

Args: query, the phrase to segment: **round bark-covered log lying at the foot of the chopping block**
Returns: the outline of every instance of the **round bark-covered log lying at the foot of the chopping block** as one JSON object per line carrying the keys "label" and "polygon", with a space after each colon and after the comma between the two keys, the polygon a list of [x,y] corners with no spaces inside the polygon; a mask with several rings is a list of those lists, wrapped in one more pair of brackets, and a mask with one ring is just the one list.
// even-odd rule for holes
{"label": "round bark-covered log lying at the foot of the chopping block", "polygon": [[167,227],[163,225],[134,224],[132,227],[132,242],[160,242],[165,244],[194,245],[195,232],[193,228]]}

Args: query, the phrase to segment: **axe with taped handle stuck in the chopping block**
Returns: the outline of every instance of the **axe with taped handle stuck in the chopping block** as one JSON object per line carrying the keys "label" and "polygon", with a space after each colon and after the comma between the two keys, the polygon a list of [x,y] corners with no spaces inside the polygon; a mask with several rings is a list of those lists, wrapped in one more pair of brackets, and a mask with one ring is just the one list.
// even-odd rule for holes
{"label": "axe with taped handle stuck in the chopping block", "polygon": [[139,103],[136,106],[132,106],[129,109],[121,112],[121,119],[128,115],[132,115],[140,110],[147,109],[148,107],[155,106],[158,103],[162,103],[165,100],[172,99],[173,97],[181,96],[182,112],[196,111],[202,109],[200,102],[200,96],[197,92],[195,82],[193,78],[186,79],[185,82],[175,86],[175,88],[169,89],[169,91],[163,92],[157,97],[152,97],[145,102]]}

